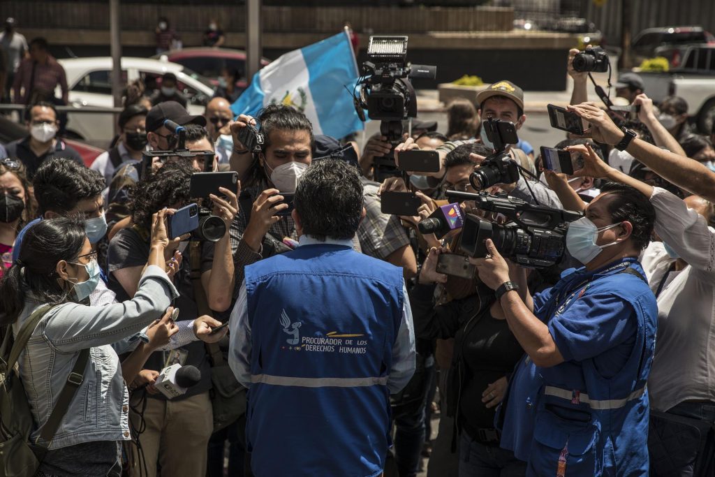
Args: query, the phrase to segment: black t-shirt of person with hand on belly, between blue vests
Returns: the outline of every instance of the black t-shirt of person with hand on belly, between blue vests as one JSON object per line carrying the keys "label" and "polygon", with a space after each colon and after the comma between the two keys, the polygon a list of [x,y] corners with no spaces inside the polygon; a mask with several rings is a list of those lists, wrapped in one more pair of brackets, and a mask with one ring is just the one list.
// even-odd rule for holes
{"label": "black t-shirt of person with hand on belly, between blue vests", "polygon": [[[458,350],[455,348],[455,353]],[[462,341],[465,376],[460,395],[460,423],[472,437],[475,428],[493,428],[496,408],[487,408],[482,393],[490,383],[511,373],[523,356],[506,320],[485,312]]]}

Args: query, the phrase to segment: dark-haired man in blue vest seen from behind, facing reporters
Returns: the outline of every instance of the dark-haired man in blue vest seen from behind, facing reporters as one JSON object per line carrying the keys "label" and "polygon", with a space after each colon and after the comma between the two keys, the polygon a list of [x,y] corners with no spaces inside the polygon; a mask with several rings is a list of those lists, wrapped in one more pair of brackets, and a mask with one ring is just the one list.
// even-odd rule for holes
{"label": "dark-haired man in blue vest seen from behind, facing reporters", "polygon": [[365,216],[358,170],[322,159],[298,182],[299,246],[245,267],[229,364],[249,388],[257,477],[380,476],[390,393],[415,370],[403,271],[352,250]]}

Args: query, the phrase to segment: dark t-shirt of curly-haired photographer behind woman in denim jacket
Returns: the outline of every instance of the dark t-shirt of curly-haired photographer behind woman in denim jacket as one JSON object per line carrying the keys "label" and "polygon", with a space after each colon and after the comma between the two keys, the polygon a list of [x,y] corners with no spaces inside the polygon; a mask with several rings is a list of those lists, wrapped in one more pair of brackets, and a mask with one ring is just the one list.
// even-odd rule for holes
{"label": "dark t-shirt of curly-haired photographer behind woman in denim jacket", "polygon": [[[129,300],[129,295],[124,291],[124,287],[119,283],[114,272],[127,267],[144,266],[149,257],[149,243],[144,242],[133,228],[127,228],[117,232],[117,235],[109,242],[107,260],[109,262],[109,282],[107,287],[117,295],[117,301]],[[198,317],[199,311],[194,300],[194,285],[191,281],[191,260],[189,260],[189,247],[184,252],[182,267],[174,275],[174,286],[177,287],[179,297],[174,300],[172,306],[179,308],[179,318],[177,321],[194,320]],[[203,267],[202,267],[203,268]],[[208,269],[207,269],[208,270]],[[189,345],[180,348],[186,350],[187,355],[184,365],[194,365],[201,372],[201,380],[197,385],[192,386],[183,396],[188,398],[192,395],[203,393],[211,388],[211,369],[206,348],[202,341],[194,341]],[[164,368],[169,351],[156,351],[147,360],[144,369],[160,371]],[[163,398],[163,395],[152,395],[152,397]],[[179,398],[174,398],[174,400]]]}

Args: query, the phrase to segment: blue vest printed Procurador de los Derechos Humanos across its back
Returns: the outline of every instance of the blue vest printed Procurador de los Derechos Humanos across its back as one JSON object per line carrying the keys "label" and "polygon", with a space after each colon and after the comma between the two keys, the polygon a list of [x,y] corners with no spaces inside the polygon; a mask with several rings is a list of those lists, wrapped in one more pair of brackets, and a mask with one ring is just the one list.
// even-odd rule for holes
{"label": "blue vest printed Procurador de los Derechos Humanos across its back", "polygon": [[402,270],[349,247],[302,245],[245,267],[245,285],[256,476],[380,475]]}

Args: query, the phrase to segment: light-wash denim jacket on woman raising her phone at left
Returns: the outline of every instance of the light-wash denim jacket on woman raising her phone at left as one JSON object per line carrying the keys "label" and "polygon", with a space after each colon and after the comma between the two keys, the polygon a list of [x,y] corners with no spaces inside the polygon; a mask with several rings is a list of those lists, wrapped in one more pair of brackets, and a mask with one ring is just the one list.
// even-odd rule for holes
{"label": "light-wash denim jacket on woman raising her phone at left", "polygon": [[[31,439],[39,439],[79,352],[91,348],[84,380],[77,389],[50,449],[89,441],[128,441],[129,393],[112,343],[134,335],[161,318],[178,296],[164,270],[147,267],[132,300],[104,306],[64,303],[42,318],[20,355],[20,377],[35,424]],[[26,302],[13,325],[22,323],[42,303]],[[43,441],[39,441],[44,443]],[[46,443],[44,443],[46,444]]]}

